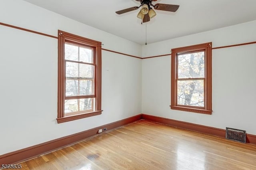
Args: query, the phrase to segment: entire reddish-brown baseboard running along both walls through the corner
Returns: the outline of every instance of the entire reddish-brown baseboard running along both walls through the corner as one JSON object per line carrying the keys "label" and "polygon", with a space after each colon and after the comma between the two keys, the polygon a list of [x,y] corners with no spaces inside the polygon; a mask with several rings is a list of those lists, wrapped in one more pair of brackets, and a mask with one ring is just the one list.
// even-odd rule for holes
{"label": "entire reddish-brown baseboard running along both walls through the corner", "polygon": [[[166,119],[162,117],[140,114],[134,117],[123,119],[121,121],[117,121],[117,122],[103,125],[100,127],[92,128],[83,132],[79,132],[76,134],[72,134],[69,136],[44,142],[42,144],[37,144],[34,146],[30,146],[28,148],[24,148],[21,150],[0,155],[0,164],[15,164],[15,163],[23,162],[25,160],[35,158],[36,156],[40,156],[42,154],[51,152],[53,150],[57,150],[59,148],[63,148],[70,144],[74,144],[76,142],[85,140],[86,138],[95,136],[98,134],[98,129],[100,128],[107,128],[107,131],[108,131],[114,128],[127,125],[129,123],[139,121],[141,119],[156,122],[156,123],[161,123],[164,125],[169,125],[172,127],[182,128],[186,130],[196,131],[204,134],[210,134],[210,135],[218,136],[221,138],[225,138],[224,129],[207,127],[207,126],[197,125],[193,123],[187,123],[187,122],[176,121],[172,119]],[[246,142],[250,144],[256,144],[256,135],[246,134]]]}

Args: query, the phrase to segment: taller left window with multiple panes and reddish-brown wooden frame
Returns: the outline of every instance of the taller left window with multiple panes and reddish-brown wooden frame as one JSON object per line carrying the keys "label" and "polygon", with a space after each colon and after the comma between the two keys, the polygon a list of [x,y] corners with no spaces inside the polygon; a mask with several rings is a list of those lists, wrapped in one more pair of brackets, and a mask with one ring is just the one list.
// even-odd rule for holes
{"label": "taller left window with multiple panes and reddish-brown wooden frame", "polygon": [[57,122],[101,112],[101,42],[59,30]]}

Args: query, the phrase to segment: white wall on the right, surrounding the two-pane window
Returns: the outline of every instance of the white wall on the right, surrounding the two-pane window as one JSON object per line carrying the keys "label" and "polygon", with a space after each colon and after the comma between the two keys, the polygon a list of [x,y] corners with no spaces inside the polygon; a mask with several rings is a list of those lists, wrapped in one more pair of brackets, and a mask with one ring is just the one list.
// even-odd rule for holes
{"label": "white wall on the right, surrounding the two-pane window", "polygon": [[[142,47],[144,57],[212,42],[213,47],[256,41],[256,21]],[[171,110],[170,56],[142,60],[142,113],[256,134],[256,44],[212,50],[212,115]]]}

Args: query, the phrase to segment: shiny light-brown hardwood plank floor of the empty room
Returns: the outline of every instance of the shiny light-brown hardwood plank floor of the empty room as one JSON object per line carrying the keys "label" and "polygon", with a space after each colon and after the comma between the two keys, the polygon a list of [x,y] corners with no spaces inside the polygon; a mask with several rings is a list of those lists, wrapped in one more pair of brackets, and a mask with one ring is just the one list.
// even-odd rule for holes
{"label": "shiny light-brown hardwood plank floor of the empty room", "polygon": [[21,164],[24,170],[256,170],[256,145],[141,120]]}

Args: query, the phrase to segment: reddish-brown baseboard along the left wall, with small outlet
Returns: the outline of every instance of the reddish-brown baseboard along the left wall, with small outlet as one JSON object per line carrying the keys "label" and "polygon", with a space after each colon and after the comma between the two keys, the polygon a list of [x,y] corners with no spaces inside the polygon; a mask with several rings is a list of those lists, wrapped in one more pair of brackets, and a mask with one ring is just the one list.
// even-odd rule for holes
{"label": "reddish-brown baseboard along the left wall, with small outlet", "polygon": [[85,130],[83,132],[79,132],[76,134],[72,134],[69,136],[65,136],[62,138],[44,142],[42,144],[37,144],[34,146],[30,146],[28,148],[24,148],[21,150],[3,154],[3,155],[0,155],[0,165],[1,164],[15,164],[15,163],[23,162],[25,160],[35,158],[36,156],[40,156],[42,154],[51,152],[53,150],[57,150],[59,148],[63,148],[64,146],[68,146],[70,144],[74,144],[76,142],[85,140],[86,138],[95,136],[98,134],[98,129],[107,128],[107,131],[109,131],[114,128],[118,128],[118,127],[127,125],[129,123],[139,121],[141,119],[142,119],[141,114],[136,115],[134,117],[123,119],[121,121],[117,121],[117,122],[103,125],[100,127]]}

